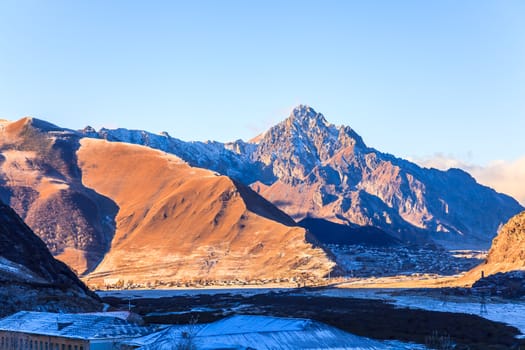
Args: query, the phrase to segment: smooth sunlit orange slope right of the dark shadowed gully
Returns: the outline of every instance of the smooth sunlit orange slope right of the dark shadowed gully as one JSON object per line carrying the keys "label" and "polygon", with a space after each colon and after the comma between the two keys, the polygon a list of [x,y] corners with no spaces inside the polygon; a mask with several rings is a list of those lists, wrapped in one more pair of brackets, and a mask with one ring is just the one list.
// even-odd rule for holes
{"label": "smooth sunlit orange slope right of the dark shadowed gully", "polygon": [[[77,157],[84,184],[120,208],[111,248],[89,283],[322,276],[333,265],[305,242],[304,229],[271,220],[267,202],[228,177],[102,140],[82,139]],[[262,215],[247,208],[247,197]]]}

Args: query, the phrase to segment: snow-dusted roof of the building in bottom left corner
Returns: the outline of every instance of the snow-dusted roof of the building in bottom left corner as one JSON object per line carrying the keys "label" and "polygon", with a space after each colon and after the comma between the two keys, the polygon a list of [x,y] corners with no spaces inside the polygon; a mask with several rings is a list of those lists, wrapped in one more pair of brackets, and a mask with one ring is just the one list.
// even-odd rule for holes
{"label": "snow-dusted roof of the building in bottom left corner", "polygon": [[0,330],[74,339],[130,338],[156,330],[127,322],[119,316],[20,311],[1,319]]}

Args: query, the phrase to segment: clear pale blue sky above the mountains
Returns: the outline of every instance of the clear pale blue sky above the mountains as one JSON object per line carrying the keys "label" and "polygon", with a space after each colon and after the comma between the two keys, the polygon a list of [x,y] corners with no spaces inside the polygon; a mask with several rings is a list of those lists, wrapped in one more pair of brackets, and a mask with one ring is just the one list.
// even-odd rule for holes
{"label": "clear pale blue sky above the mountains", "polygon": [[368,145],[525,156],[525,1],[0,3],[0,118],[249,139],[309,104]]}

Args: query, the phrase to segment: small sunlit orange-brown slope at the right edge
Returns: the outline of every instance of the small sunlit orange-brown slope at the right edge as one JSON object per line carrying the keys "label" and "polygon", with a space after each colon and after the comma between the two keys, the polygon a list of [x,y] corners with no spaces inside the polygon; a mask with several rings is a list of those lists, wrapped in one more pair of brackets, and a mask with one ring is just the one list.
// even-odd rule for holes
{"label": "small sunlit orange-brown slope at the right edge", "polygon": [[492,241],[485,263],[478,265],[459,280],[472,284],[481,277],[498,272],[525,270],[525,211],[511,218]]}

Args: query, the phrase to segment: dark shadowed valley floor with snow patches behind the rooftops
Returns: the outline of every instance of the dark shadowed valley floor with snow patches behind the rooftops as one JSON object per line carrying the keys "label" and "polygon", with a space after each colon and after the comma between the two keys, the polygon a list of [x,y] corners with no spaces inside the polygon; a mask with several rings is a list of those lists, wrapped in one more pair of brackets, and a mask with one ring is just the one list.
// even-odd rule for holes
{"label": "dark shadowed valley floor with snow patches behind the rooftops", "polygon": [[[524,346],[525,301],[444,295],[431,289],[302,288],[99,292],[154,323],[212,322],[231,314],[301,317],[373,339],[425,344],[450,335],[457,349]],[[510,325],[510,326],[509,326]]]}

